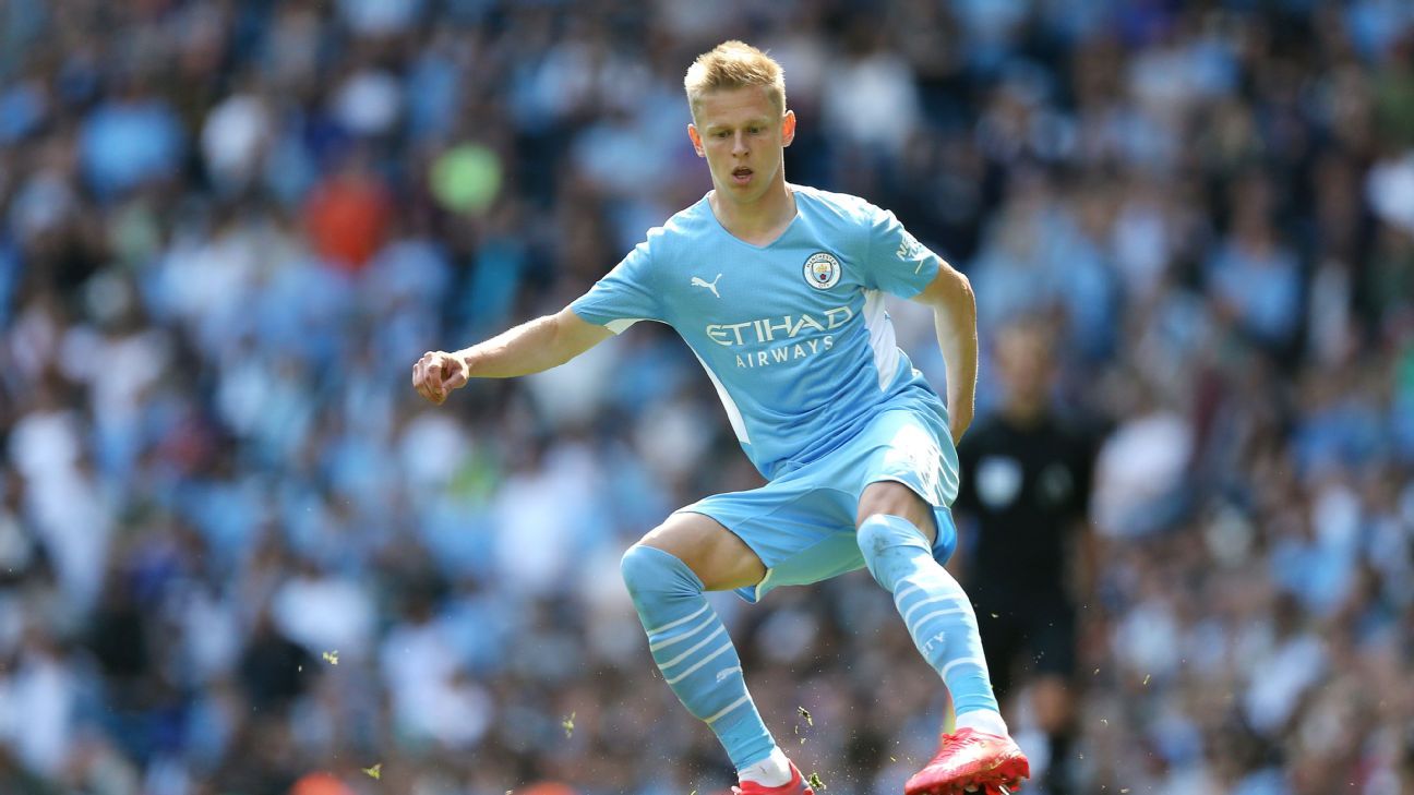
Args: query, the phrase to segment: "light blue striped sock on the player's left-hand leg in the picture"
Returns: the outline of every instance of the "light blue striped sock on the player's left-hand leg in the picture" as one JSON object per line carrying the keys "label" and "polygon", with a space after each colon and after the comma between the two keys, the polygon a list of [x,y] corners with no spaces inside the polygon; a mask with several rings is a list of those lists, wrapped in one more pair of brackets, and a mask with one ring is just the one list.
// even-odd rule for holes
{"label": "light blue striped sock on the player's left-hand leg in the picture", "polygon": [[676,556],[633,545],[624,584],[648,632],[648,649],[687,712],[717,734],[737,770],[771,755],[776,743],[741,675],[741,658],[703,596],[703,581]]}

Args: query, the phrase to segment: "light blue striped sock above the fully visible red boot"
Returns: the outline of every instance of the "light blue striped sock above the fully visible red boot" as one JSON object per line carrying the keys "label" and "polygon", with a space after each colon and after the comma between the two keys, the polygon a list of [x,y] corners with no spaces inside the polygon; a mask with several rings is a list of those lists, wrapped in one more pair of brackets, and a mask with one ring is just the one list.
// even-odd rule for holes
{"label": "light blue striped sock above the fully visible red boot", "polygon": [[860,525],[858,538],[864,564],[894,594],[913,644],[947,685],[954,712],[997,712],[977,615],[963,587],[933,560],[928,538],[908,519],[881,513]]}

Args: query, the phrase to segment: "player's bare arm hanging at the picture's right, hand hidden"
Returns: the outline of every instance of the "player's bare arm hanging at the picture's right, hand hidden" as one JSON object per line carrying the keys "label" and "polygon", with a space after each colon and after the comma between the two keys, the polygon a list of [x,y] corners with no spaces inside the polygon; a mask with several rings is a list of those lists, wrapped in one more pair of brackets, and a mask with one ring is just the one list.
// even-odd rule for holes
{"label": "player's bare arm hanging at the picture's right, hand hidden", "polygon": [[947,365],[947,424],[953,444],[971,424],[977,395],[977,300],[962,272],[937,260],[937,274],[913,300],[932,307],[937,347]]}

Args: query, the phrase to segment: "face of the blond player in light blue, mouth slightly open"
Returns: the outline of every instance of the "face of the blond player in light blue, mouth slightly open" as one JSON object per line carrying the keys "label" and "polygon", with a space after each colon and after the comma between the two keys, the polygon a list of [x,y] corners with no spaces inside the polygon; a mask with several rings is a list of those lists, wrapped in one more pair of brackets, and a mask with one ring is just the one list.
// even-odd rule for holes
{"label": "face of the blond player in light blue, mouth slightly open", "polygon": [[761,86],[714,91],[697,102],[687,134],[707,158],[718,197],[752,204],[785,180],[781,161],[795,137],[795,113],[782,116]]}

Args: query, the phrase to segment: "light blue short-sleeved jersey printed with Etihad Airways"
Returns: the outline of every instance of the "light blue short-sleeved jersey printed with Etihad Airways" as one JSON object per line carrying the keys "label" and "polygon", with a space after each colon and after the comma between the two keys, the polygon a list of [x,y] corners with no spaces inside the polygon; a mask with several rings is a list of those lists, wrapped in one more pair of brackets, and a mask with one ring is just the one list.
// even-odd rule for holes
{"label": "light blue short-sleeved jersey printed with Etihad Airways", "polygon": [[[884,310],[885,293],[923,290],[939,257],[861,198],[792,191],[796,216],[772,243],[732,236],[703,197],[571,304],[615,332],[641,320],[672,325],[768,480],[834,450],[882,409],[915,409],[947,427]],[[956,460],[947,468],[956,472]]]}

